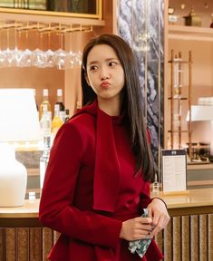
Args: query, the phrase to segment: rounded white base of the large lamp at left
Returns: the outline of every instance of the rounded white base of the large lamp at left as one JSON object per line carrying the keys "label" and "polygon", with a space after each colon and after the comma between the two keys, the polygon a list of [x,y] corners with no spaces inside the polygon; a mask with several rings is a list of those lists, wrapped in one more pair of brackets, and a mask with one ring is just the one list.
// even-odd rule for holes
{"label": "rounded white base of the large lamp at left", "polygon": [[0,146],[0,159],[0,207],[23,206],[27,171],[10,146]]}

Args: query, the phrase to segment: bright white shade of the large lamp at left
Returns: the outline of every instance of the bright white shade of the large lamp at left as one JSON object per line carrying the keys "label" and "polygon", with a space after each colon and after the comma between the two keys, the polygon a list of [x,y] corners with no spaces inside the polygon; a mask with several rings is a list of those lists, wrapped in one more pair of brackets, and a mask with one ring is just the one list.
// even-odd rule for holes
{"label": "bright white shade of the large lamp at left", "polygon": [[33,89],[0,89],[0,141],[40,140]]}

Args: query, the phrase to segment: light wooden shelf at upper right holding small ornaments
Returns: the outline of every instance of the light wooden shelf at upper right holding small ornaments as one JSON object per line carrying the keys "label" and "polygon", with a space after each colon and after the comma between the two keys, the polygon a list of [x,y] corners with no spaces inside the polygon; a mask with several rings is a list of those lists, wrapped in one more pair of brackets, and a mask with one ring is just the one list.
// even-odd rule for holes
{"label": "light wooden shelf at upper right holding small ornaments", "polygon": [[213,29],[195,26],[168,25],[169,39],[185,41],[212,41]]}

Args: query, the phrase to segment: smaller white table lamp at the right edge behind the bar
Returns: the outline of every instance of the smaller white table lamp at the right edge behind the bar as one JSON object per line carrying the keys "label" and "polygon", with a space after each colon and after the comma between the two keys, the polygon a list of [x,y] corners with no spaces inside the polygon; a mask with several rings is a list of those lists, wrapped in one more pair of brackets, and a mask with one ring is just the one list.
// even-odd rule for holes
{"label": "smaller white table lamp at the right edge behind the bar", "polygon": [[[189,111],[187,114],[189,121]],[[192,105],[191,121],[211,121],[210,154],[213,155],[213,105]]]}

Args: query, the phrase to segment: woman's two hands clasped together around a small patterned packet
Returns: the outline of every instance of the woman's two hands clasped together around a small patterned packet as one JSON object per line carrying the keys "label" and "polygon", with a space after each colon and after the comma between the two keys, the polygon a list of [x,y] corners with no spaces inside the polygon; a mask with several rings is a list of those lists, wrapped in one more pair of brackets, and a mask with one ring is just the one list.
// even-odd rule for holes
{"label": "woman's two hands clasped together around a small patterned packet", "polygon": [[121,238],[128,241],[152,238],[167,226],[169,214],[160,198],[153,198],[147,208],[149,218],[131,218],[122,222]]}

